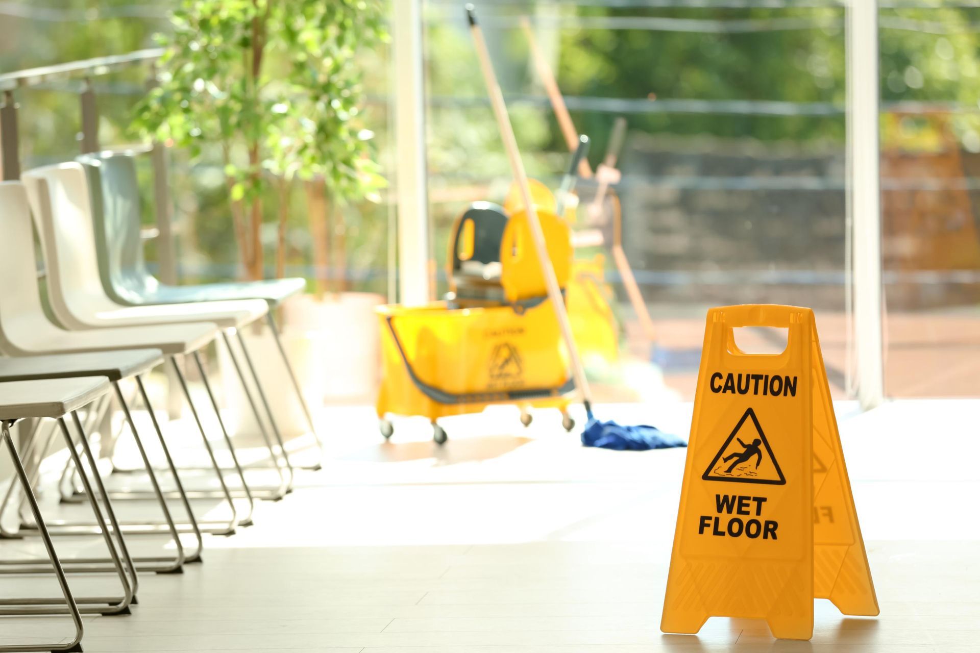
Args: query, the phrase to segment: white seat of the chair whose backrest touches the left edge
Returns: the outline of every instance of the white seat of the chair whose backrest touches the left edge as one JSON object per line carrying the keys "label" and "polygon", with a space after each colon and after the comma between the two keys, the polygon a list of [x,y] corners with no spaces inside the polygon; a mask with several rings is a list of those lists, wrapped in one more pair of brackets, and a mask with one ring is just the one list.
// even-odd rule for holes
{"label": "white seat of the chair whose backrest touches the left edge", "polygon": [[61,331],[52,327],[33,338],[21,337],[14,345],[23,355],[147,349],[175,355],[200,350],[217,335],[218,325],[209,322],[85,331]]}

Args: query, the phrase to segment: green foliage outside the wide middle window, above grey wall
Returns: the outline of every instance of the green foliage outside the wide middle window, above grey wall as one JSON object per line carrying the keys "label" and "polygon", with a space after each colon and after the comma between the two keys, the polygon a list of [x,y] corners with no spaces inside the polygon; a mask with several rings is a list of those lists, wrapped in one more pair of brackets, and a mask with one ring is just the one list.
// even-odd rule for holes
{"label": "green foliage outside the wide middle window, above grey wall", "polygon": [[[649,16],[712,24],[800,21],[806,29],[647,31],[590,29],[562,43],[559,76],[568,95],[627,99],[845,103],[843,8],[592,9],[588,15]],[[586,73],[580,71],[585,70]],[[632,129],[683,136],[844,140],[843,116],[651,113],[630,116]],[[608,116],[583,116],[580,129],[609,132]],[[597,149],[605,142],[596,143]]]}

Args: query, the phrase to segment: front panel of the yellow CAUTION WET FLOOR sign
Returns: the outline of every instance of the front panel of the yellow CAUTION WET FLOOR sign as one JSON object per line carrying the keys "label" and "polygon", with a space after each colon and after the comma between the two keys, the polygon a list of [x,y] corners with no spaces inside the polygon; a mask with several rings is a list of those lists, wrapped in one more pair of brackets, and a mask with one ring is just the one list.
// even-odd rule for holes
{"label": "front panel of the yellow CAUTION WET FLOOR sign", "polygon": [[[664,631],[697,632],[718,616],[764,619],[777,637],[812,634],[812,315],[787,306],[708,313]],[[787,349],[742,352],[732,329],[744,326],[788,328]]]}

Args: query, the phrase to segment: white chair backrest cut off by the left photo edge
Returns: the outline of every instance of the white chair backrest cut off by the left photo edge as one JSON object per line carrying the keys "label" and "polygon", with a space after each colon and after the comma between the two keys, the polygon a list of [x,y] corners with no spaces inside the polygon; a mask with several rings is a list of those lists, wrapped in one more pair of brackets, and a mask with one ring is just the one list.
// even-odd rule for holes
{"label": "white chair backrest cut off by the left photo edge", "polygon": [[0,182],[0,350],[29,353],[26,343],[57,331],[44,313],[37,285],[37,257],[24,184]]}

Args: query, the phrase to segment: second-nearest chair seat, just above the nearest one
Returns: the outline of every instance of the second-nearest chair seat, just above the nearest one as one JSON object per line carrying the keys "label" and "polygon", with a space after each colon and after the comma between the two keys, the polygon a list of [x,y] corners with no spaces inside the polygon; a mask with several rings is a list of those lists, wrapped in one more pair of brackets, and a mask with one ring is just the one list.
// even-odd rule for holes
{"label": "second-nearest chair seat, just above the nearest one", "polygon": [[0,383],[104,376],[110,381],[149,371],[164,361],[161,350],[90,351],[0,358]]}

